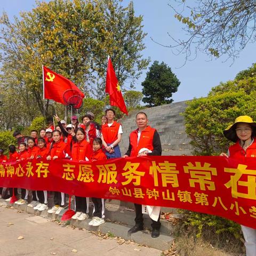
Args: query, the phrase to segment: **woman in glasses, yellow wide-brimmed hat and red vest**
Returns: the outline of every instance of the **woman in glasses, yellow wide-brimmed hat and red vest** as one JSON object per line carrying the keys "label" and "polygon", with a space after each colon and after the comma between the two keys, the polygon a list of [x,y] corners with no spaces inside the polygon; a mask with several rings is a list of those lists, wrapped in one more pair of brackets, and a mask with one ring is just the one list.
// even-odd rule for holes
{"label": "woman in glasses, yellow wide-brimmed hat and red vest", "polygon": [[[256,157],[256,123],[250,116],[238,116],[234,124],[223,131],[224,136],[233,142],[228,148],[228,153],[221,153],[225,157]],[[247,256],[256,255],[256,229],[241,225]]]}

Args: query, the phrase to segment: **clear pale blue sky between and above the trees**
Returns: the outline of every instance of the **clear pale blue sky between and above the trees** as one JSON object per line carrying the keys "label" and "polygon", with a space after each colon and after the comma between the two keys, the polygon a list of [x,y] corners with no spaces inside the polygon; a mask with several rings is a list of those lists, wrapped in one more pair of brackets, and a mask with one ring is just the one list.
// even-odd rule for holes
{"label": "clear pale blue sky between and above the trees", "polygon": [[[123,5],[129,2],[129,0],[124,0]],[[173,2],[173,0],[133,1],[135,15],[143,15],[144,30],[148,33],[145,38],[146,49],[143,55],[150,57],[151,63],[154,60],[164,61],[172,68],[173,73],[181,82],[178,92],[173,94],[174,102],[205,97],[213,86],[234,79],[239,71],[250,67],[255,62],[255,44],[249,44],[233,65],[231,61],[223,62],[225,59],[208,61],[209,57],[201,53],[195,60],[179,68],[184,63],[184,57],[174,55],[171,49],[160,46],[150,39],[153,37],[155,41],[168,45],[171,41],[167,32],[176,38],[184,36],[185,32],[181,29],[180,22],[174,18],[172,9],[167,5]],[[9,0],[1,1],[0,10],[5,10],[11,18],[13,15],[19,15],[20,11],[33,9],[34,6],[35,0]],[[146,71],[137,83],[136,87],[139,91],[142,89],[141,82],[146,77]]]}

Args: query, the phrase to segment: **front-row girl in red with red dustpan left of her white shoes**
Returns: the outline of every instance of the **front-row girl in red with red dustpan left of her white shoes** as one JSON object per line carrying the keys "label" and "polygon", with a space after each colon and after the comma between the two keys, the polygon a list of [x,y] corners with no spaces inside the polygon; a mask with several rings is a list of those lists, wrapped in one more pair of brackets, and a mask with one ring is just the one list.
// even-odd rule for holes
{"label": "front-row girl in red with red dustpan left of her white shoes", "polygon": [[[73,143],[71,156],[73,161],[89,161],[92,157],[92,148],[85,139],[85,131],[79,127],[76,131],[76,142]],[[75,196],[76,199],[76,214],[73,215],[73,220],[85,220],[89,218],[89,198]]]}

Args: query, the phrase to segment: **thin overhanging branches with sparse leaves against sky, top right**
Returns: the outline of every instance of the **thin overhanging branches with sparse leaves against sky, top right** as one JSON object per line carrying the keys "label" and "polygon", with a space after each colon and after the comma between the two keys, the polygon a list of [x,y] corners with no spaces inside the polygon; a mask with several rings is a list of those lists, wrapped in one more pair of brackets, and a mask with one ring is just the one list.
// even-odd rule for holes
{"label": "thin overhanging branches with sparse leaves against sky, top right", "polygon": [[[176,39],[171,46],[186,54],[186,60],[198,51],[219,58],[234,59],[246,44],[256,40],[255,0],[179,0],[177,9],[170,4],[175,18],[184,24],[185,39]],[[192,2],[192,3],[191,3]],[[195,3],[193,3],[195,2]]]}

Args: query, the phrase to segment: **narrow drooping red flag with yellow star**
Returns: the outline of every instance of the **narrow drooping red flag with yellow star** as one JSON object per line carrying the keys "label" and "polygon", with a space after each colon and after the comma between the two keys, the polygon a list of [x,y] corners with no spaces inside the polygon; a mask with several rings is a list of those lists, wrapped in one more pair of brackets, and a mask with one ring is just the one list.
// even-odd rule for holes
{"label": "narrow drooping red flag with yellow star", "polygon": [[128,115],[122,92],[116,78],[116,73],[113,68],[110,58],[108,59],[107,78],[106,78],[106,93],[109,94],[110,105],[118,107],[123,113]]}

